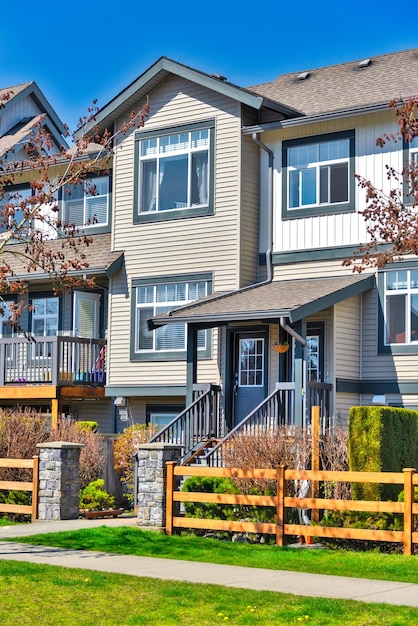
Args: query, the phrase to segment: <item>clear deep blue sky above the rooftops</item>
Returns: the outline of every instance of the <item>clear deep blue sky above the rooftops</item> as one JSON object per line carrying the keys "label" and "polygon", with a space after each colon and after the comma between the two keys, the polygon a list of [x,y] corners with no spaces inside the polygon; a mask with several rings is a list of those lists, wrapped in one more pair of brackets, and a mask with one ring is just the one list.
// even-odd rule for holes
{"label": "clear deep blue sky above the rooftops", "polygon": [[389,0],[8,0],[0,42],[0,86],[34,80],[72,130],[160,56],[248,87],[418,47]]}

